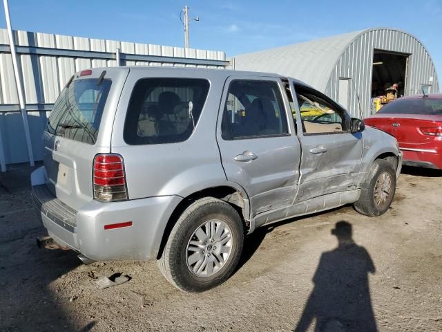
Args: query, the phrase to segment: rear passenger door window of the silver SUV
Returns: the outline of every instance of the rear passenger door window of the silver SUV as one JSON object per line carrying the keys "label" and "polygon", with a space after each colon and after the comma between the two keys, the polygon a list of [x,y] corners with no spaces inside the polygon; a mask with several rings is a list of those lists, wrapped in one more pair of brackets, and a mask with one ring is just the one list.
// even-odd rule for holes
{"label": "rear passenger door window of the silver SUV", "polygon": [[222,116],[222,138],[236,140],[289,133],[276,82],[231,82]]}

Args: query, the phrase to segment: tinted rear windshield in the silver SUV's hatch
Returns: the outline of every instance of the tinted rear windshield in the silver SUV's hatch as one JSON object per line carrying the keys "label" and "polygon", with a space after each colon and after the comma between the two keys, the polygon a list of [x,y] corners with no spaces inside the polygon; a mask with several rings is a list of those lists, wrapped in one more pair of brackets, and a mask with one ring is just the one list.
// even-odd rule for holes
{"label": "tinted rear windshield in the silver SUV's hatch", "polygon": [[97,84],[96,78],[70,83],[57,98],[46,131],[71,140],[95,144],[111,84],[111,80],[102,80]]}

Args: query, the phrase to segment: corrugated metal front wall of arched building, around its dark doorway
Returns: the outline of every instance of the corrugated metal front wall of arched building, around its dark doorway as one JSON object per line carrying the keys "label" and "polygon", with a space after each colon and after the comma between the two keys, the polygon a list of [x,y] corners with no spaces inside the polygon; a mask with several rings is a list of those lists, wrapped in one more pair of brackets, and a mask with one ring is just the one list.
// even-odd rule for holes
{"label": "corrugated metal front wall of arched building, around its dark doorway", "polygon": [[370,115],[374,49],[410,54],[405,86],[406,95],[421,93],[422,84],[430,85],[432,93],[439,91],[439,82],[432,59],[418,39],[398,30],[367,30],[358,35],[344,50],[332,71],[325,90],[329,97],[338,100],[339,79],[349,78],[351,82],[348,109],[352,116],[359,116],[355,89],[360,98],[363,116]]}

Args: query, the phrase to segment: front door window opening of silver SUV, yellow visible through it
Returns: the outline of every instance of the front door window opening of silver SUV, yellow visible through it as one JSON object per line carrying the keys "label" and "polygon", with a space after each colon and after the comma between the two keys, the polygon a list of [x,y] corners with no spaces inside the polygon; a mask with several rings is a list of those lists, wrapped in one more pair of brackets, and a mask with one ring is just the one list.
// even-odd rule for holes
{"label": "front door window opening of silver SUV, yellow visible through it", "polygon": [[309,91],[297,93],[302,132],[342,133],[346,131],[345,116],[340,109]]}

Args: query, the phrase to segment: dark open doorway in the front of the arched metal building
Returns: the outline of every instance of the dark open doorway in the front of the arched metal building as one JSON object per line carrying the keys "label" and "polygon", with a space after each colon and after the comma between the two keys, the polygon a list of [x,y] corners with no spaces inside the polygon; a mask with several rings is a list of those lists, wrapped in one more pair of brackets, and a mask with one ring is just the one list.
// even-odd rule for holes
{"label": "dark open doorway in the front of the arched metal building", "polygon": [[374,50],[372,76],[374,111],[378,111],[383,105],[405,95],[407,64],[407,54]]}

